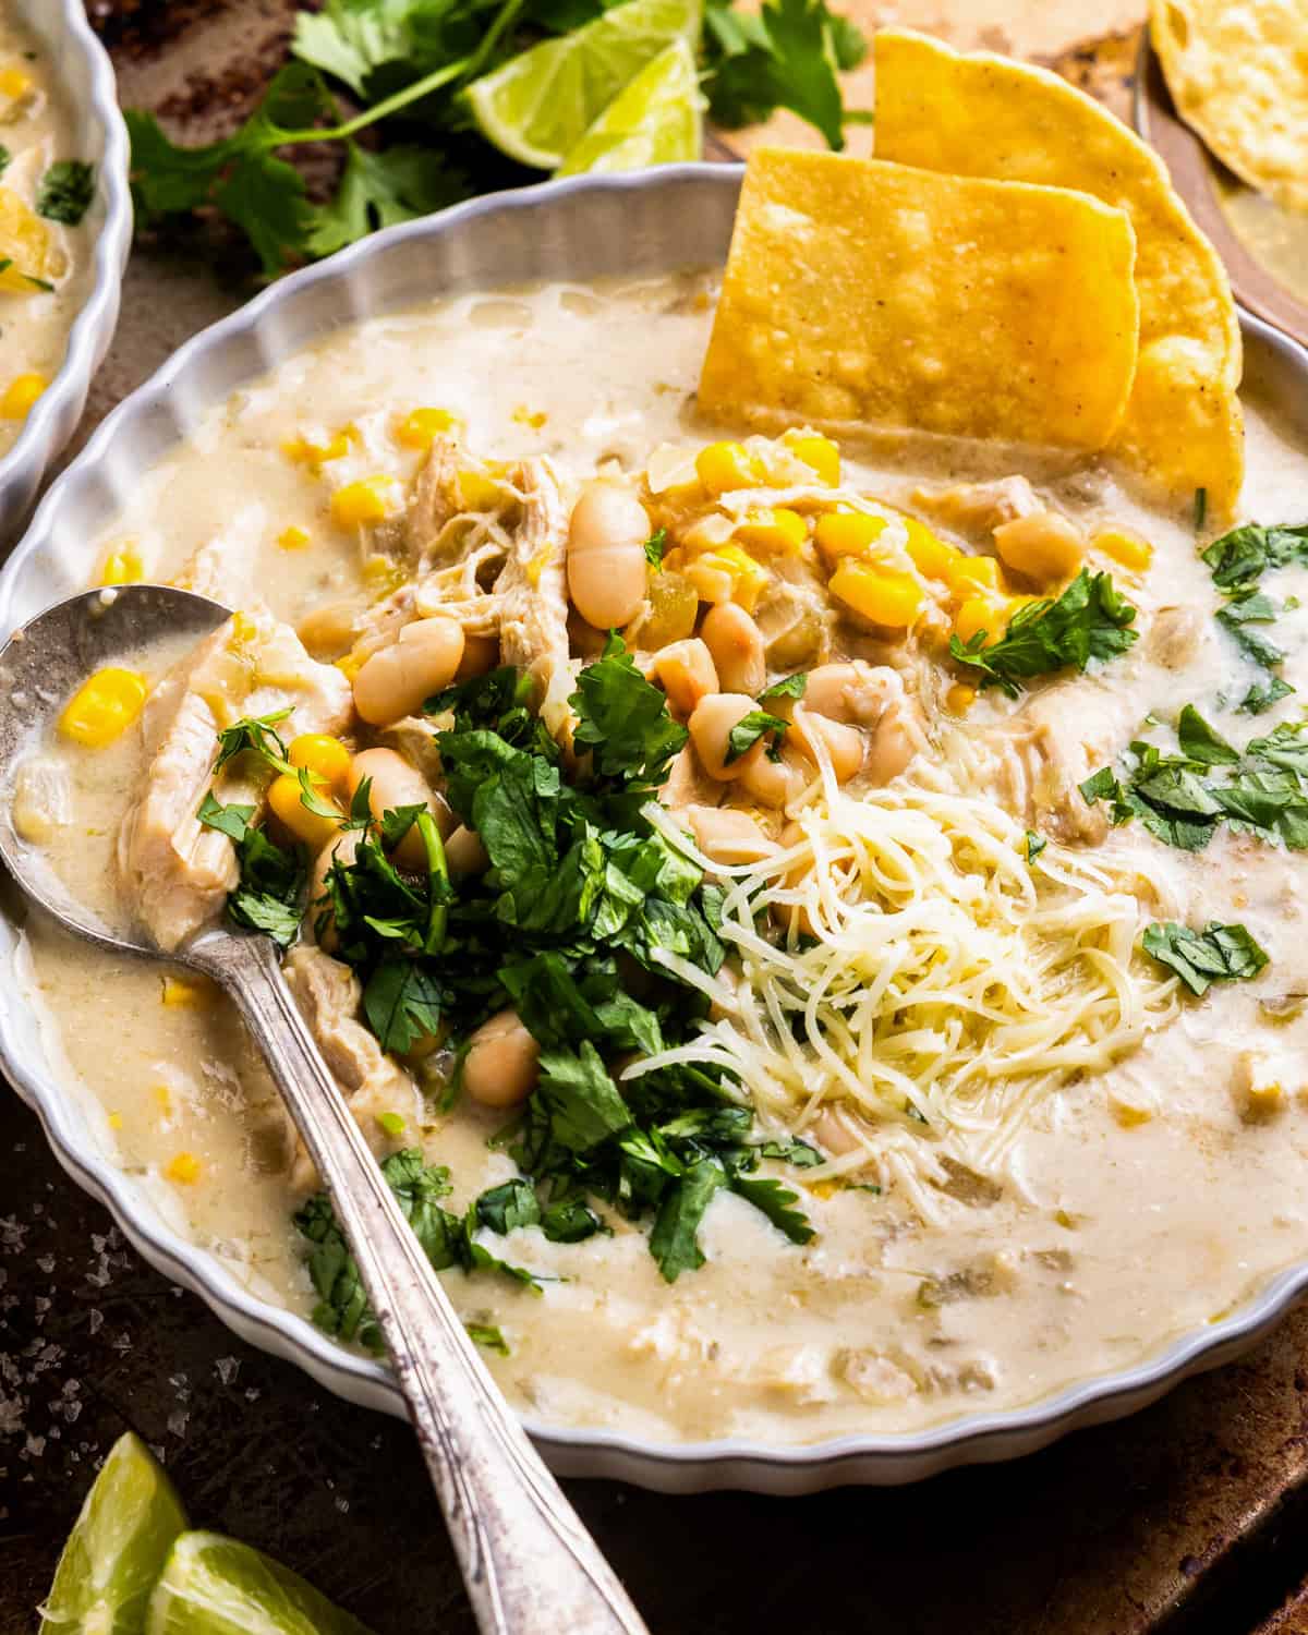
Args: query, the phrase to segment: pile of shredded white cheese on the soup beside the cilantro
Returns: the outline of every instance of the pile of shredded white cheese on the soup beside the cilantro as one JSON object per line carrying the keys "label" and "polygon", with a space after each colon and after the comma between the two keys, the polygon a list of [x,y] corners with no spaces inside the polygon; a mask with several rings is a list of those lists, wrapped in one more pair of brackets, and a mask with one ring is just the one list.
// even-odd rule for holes
{"label": "pile of shredded white cheese on the soup beside the cilantro", "polygon": [[[795,816],[798,839],[759,863],[697,858],[726,886],[734,960],[716,978],[677,961],[711,1017],[626,1076],[716,1064],[765,1125],[821,1118],[822,1144],[845,1151],[811,1179],[870,1176],[932,1213],[922,1184],[945,1179],[943,1154],[1001,1169],[1041,1100],[1174,1014],[1110,849],[1050,842],[1028,863],[1025,829],[991,800],[903,780],[855,798],[829,767]],[[651,821],[695,855],[667,813]]]}

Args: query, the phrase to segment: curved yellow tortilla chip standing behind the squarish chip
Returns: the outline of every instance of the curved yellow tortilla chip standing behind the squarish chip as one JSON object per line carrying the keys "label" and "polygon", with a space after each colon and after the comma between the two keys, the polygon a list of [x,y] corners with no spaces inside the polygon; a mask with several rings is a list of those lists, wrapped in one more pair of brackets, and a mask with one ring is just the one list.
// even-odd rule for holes
{"label": "curved yellow tortilla chip standing behind the squarish chip", "polygon": [[1140,361],[1115,453],[1228,517],[1244,479],[1241,347],[1231,286],[1162,162],[1066,80],[925,34],[876,36],[876,152],[904,165],[1077,188],[1135,224]]}

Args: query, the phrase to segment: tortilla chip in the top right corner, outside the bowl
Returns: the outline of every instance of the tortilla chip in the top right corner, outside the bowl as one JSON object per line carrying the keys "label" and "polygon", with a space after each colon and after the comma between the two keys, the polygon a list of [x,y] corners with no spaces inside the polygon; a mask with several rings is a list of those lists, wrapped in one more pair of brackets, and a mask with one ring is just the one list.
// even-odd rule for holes
{"label": "tortilla chip in the top right corner, outside the bowl", "polygon": [[1151,11],[1180,118],[1249,186],[1308,211],[1303,0],[1153,0]]}

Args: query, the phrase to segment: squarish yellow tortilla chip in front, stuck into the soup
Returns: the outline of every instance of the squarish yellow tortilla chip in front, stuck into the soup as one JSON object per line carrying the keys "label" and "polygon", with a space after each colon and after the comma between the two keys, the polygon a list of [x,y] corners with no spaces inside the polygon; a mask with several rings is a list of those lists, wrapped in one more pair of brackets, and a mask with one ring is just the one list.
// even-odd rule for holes
{"label": "squarish yellow tortilla chip in front, stuck into the soup", "polygon": [[1063,188],[757,149],[700,405],[1102,448],[1135,373],[1133,263],[1125,214]]}

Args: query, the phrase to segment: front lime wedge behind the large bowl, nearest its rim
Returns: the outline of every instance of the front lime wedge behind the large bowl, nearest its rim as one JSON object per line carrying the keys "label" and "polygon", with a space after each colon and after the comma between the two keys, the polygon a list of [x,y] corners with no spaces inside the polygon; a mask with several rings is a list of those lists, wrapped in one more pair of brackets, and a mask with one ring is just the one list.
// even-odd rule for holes
{"label": "front lime wedge behind the large bowl, nearest its rim", "polygon": [[618,92],[556,175],[643,170],[698,159],[703,106],[695,54],[677,39]]}

